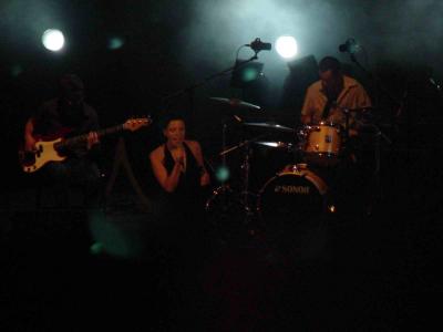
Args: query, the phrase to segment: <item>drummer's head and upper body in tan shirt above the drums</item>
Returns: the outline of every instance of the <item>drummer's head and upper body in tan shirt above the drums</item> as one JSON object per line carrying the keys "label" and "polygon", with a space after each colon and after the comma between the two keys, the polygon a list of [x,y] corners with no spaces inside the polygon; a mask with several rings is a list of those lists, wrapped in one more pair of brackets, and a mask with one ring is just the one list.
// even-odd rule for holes
{"label": "drummer's head and upper body in tan shirt above the drums", "polygon": [[349,113],[349,136],[358,134],[356,115],[371,107],[371,100],[363,86],[341,71],[340,61],[332,56],[319,63],[320,80],[311,84],[306,93],[301,108],[301,123],[326,121],[346,126],[344,110]]}

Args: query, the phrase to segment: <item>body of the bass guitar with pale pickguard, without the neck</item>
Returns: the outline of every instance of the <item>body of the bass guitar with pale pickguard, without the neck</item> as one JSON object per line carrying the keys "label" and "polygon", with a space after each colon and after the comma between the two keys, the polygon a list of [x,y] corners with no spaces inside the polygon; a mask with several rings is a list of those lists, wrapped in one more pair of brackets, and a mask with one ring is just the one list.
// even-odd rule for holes
{"label": "body of the bass guitar with pale pickguard, without the neck", "polygon": [[66,157],[55,151],[55,144],[62,142],[62,138],[54,141],[40,141],[35,143],[34,152],[21,152],[21,166],[24,173],[39,170],[49,162],[62,162]]}

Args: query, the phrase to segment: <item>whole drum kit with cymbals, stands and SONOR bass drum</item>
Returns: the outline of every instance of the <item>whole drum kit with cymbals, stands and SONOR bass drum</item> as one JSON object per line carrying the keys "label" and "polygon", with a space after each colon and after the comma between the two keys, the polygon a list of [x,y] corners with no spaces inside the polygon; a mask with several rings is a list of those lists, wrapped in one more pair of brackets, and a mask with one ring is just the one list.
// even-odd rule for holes
{"label": "whole drum kit with cymbals, stands and SONOR bass drum", "polygon": [[[239,100],[213,100],[230,107],[260,110],[259,106]],[[286,231],[287,226],[295,226],[290,228],[297,229],[301,225],[323,224],[326,217],[334,212],[336,207],[328,181],[318,169],[333,169],[340,164],[349,137],[348,129],[330,122],[303,124],[298,127],[288,127],[275,122],[240,124],[246,129],[258,132],[258,135],[228,147],[224,123],[219,157],[223,166],[226,166],[226,157],[239,151],[241,176],[237,187],[229,181],[222,183],[206,201],[206,211],[215,218],[216,226],[230,228],[241,224],[248,231],[255,231],[257,228]],[[289,139],[269,139],[281,134],[287,135]],[[276,170],[274,174],[258,178],[258,186],[251,189],[251,167],[258,163],[267,168],[267,165],[279,162],[278,158],[251,159],[253,152],[257,148],[278,151],[286,158],[281,158],[278,169],[272,169]]]}

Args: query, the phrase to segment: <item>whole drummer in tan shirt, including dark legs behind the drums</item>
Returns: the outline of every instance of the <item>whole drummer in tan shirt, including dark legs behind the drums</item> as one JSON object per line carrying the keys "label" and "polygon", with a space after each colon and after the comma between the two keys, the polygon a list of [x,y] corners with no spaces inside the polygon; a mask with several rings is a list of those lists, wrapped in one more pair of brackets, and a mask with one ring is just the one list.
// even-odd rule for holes
{"label": "whole drummer in tan shirt, including dark legs behind the drums", "polygon": [[[361,141],[359,137],[361,128],[356,118],[363,110],[371,107],[371,100],[359,82],[342,73],[341,64],[336,58],[323,58],[319,63],[319,74],[320,80],[307,90],[300,120],[303,124],[327,122],[329,125],[339,125],[346,129],[344,133],[348,133],[348,137],[351,139],[346,144],[346,152],[341,153],[342,163],[339,163],[339,167],[333,169],[320,167],[316,168],[316,172],[327,180],[336,203],[340,205],[341,200],[344,206],[360,206],[360,208],[367,209],[365,188],[368,188],[367,180],[370,176],[368,170],[361,167],[367,163],[364,163],[365,158],[361,158],[361,154],[358,153],[358,146],[361,145],[357,142]],[[346,110],[350,111],[348,112],[348,127],[346,126]],[[352,204],[350,198],[357,199],[359,203]]]}

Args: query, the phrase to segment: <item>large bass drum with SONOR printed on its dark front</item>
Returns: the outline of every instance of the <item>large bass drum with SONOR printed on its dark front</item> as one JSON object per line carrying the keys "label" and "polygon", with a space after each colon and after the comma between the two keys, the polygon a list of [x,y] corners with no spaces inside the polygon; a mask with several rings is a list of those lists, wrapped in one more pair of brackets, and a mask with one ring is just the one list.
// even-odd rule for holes
{"label": "large bass drum with SONOR printed on its dark front", "polygon": [[322,247],[327,193],[327,184],[305,165],[287,167],[270,178],[257,199],[258,216],[269,238],[291,248]]}

